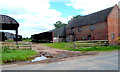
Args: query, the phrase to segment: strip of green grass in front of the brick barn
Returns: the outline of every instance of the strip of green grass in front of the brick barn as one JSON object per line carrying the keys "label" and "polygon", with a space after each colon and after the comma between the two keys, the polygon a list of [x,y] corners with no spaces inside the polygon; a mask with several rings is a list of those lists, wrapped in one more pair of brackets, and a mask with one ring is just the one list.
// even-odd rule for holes
{"label": "strip of green grass in front of the brick barn", "polygon": [[119,46],[92,46],[91,48],[77,48],[74,49],[73,43],[44,43],[44,45],[63,49],[63,50],[70,50],[70,51],[113,51],[113,50],[120,50]]}

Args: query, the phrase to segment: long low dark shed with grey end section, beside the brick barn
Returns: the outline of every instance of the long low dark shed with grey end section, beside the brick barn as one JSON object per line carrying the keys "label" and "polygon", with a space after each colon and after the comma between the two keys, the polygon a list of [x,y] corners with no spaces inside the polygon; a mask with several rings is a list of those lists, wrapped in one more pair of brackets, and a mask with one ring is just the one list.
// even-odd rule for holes
{"label": "long low dark shed with grey end section, beside the brick barn", "polygon": [[64,42],[66,27],[31,35],[33,42]]}

